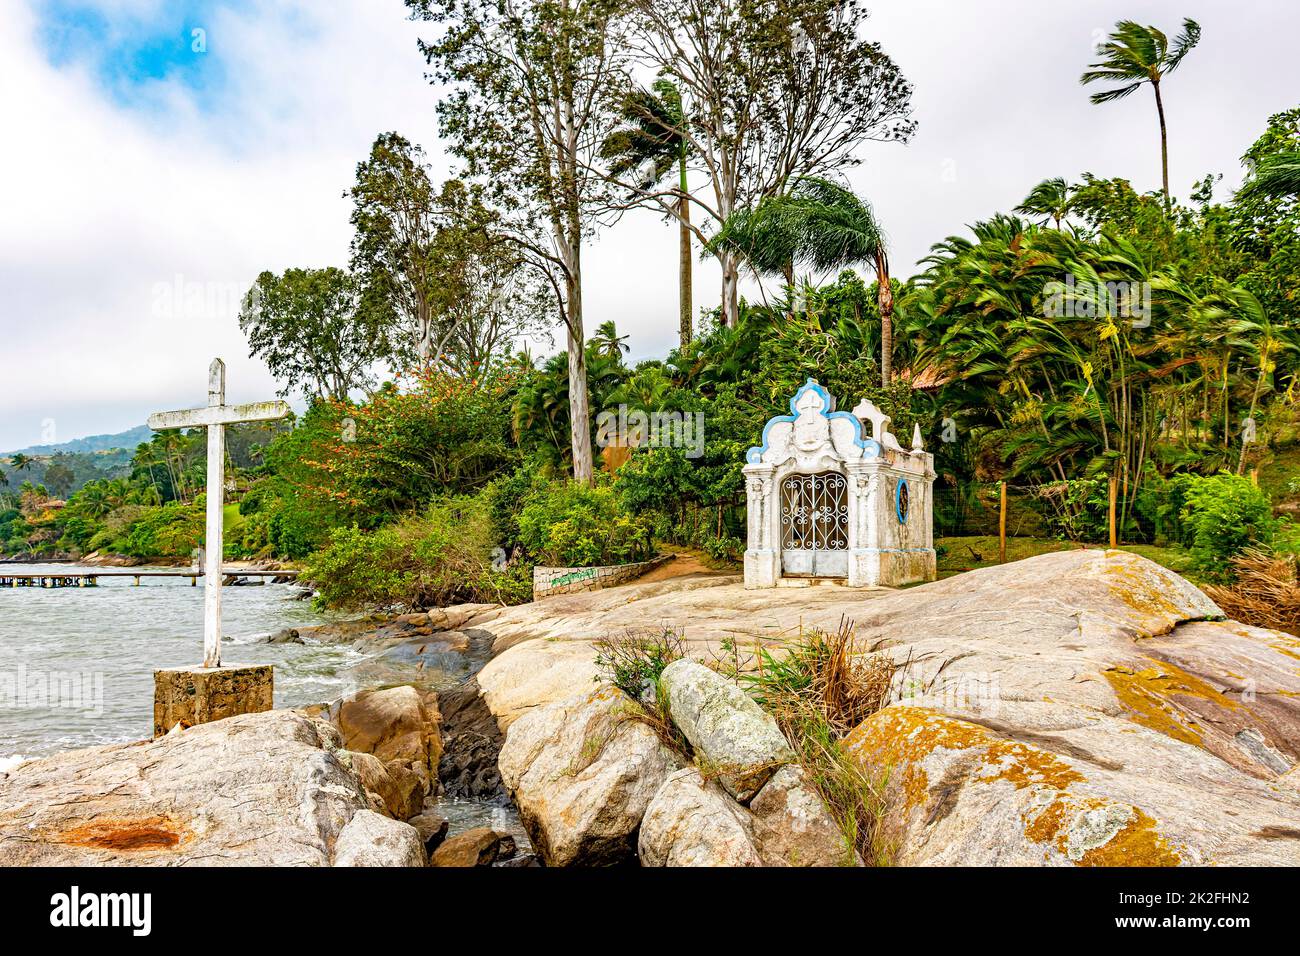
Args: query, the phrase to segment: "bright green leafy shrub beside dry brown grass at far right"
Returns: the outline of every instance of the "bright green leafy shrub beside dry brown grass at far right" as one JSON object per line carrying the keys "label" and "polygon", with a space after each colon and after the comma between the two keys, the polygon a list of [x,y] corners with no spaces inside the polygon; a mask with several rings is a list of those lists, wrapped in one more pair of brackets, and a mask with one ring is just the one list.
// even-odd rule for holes
{"label": "bright green leafy shrub beside dry brown grass at far right", "polygon": [[1249,546],[1273,544],[1278,522],[1273,505],[1249,479],[1227,472],[1204,477],[1182,475],[1180,540],[1199,571],[1213,580],[1231,580],[1231,561]]}

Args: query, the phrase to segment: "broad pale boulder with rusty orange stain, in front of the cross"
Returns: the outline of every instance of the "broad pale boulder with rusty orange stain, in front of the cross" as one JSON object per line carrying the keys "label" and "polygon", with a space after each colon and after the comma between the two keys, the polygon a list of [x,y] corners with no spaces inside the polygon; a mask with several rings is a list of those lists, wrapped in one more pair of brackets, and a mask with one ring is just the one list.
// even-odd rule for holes
{"label": "broad pale boulder with rusty orange stain, in front of the cross", "polygon": [[325,866],[369,803],[338,731],[287,710],[8,771],[0,865]]}

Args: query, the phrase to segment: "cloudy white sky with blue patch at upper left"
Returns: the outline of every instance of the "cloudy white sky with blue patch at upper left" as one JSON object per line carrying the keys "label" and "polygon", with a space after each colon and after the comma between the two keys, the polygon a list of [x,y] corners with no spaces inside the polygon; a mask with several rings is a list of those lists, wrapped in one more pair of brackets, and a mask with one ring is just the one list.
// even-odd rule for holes
{"label": "cloudy white sky with blue patch at upper left", "polygon": [[[1294,0],[867,7],[915,86],[916,137],[867,144],[850,176],[900,276],[1045,177],[1158,187],[1149,92],[1093,107],[1078,83],[1119,18],[1204,27],[1166,85],[1178,195],[1210,172],[1226,195],[1268,116],[1300,101]],[[235,319],[251,280],[346,264],[342,193],[378,131],[447,169],[420,29],[400,0],[0,0],[0,449],[200,405],[214,355],[229,401],[269,398]],[[676,256],[649,212],[602,234],[585,256],[589,328],[614,319],[633,358],[664,354]],[[715,303],[716,271],[696,274],[697,306]]]}

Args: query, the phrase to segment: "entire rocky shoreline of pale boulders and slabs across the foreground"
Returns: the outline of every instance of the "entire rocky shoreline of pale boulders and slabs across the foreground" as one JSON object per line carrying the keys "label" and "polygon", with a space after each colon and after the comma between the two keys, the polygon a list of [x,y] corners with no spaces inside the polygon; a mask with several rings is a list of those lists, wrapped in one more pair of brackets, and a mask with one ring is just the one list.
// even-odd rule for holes
{"label": "entire rocky shoreline of pale boulders and slabs across the foreground", "polygon": [[[1121,551],[907,591],[692,575],[304,630],[374,649],[373,689],[10,770],[0,862],[861,865],[772,718],[705,666],[845,617],[896,667],[844,741],[888,780],[893,861],[1300,864],[1300,641]],[[599,682],[594,643],[638,627],[686,650],[660,678],[680,747]],[[411,679],[433,661],[463,670]],[[512,803],[528,840],[448,836],[445,799]]]}

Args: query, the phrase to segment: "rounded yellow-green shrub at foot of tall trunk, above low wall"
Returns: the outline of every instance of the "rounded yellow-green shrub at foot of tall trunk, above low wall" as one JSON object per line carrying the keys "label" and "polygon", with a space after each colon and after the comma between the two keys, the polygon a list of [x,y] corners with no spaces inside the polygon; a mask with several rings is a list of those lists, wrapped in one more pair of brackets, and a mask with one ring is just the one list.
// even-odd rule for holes
{"label": "rounded yellow-green shrub at foot of tall trunk, above low wall", "polygon": [[651,522],[632,516],[608,484],[534,485],[519,514],[519,537],[540,562],[590,567],[645,561],[654,553]]}

